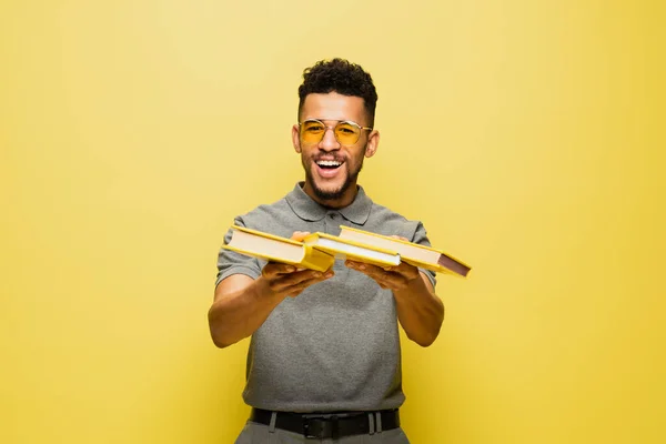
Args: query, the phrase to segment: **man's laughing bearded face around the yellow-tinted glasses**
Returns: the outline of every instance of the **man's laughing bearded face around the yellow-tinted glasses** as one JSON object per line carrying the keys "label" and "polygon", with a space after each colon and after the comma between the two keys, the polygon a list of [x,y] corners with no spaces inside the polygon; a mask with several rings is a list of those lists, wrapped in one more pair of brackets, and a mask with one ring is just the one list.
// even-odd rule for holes
{"label": "man's laughing bearded face around the yellow-tinted glasses", "polygon": [[[300,121],[304,122],[307,119],[317,119],[331,128],[339,121],[352,121],[361,127],[369,127],[370,123],[362,98],[336,92],[307,94],[301,109]],[[305,191],[314,194],[322,203],[335,203],[344,201],[345,196],[355,195],[356,178],[363,168],[363,157],[370,158],[375,153],[379,133],[361,130],[356,143],[343,145],[335,139],[333,130],[327,129],[317,143],[304,141],[299,125],[294,125],[292,139],[305,170]]]}

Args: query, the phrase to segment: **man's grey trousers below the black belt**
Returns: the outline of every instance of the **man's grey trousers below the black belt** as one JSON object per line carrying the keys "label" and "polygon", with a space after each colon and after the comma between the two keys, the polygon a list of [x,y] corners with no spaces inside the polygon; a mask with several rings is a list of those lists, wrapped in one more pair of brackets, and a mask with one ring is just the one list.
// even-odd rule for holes
{"label": "man's grey trousers below the black belt", "polygon": [[407,435],[402,428],[390,431],[373,431],[367,435],[346,436],[340,440],[306,440],[305,436],[283,431],[271,430],[268,425],[248,421],[235,444],[410,444]]}

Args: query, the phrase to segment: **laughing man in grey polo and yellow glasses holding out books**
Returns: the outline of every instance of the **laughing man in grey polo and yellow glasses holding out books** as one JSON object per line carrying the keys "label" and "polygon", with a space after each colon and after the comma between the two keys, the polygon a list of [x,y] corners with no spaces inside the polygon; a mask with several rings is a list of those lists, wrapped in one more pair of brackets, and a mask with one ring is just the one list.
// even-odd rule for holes
{"label": "laughing man in grey polo and yellow glasses holding out books", "polygon": [[[305,181],[234,223],[296,240],[337,235],[344,224],[430,245],[421,222],[377,205],[356,183],[380,142],[370,74],[321,61],[304,71],[299,97],[292,139]],[[228,250],[218,269],[215,345],[252,336],[243,398],[253,410],[236,443],[408,443],[397,412],[405,400],[397,323],[420,345],[433,343],[444,319],[434,273],[351,261],[321,273]]]}

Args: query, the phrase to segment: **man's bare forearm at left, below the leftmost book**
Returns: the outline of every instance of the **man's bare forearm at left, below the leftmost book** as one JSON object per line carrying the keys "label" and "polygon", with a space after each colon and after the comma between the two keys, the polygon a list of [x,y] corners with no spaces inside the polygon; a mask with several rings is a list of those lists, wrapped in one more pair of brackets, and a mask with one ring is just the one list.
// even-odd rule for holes
{"label": "man's bare forearm at left, below the leftmost book", "polygon": [[244,289],[216,297],[209,310],[213,342],[225,347],[252,335],[283,299],[271,292],[262,276]]}

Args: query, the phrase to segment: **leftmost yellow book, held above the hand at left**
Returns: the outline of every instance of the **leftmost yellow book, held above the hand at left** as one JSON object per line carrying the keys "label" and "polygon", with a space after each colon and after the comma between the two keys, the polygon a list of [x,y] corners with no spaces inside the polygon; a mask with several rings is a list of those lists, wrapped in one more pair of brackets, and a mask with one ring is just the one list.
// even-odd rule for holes
{"label": "leftmost yellow book, held above the hand at left", "polygon": [[225,250],[321,272],[329,270],[335,263],[332,254],[293,239],[238,225],[232,225],[231,230],[231,239],[222,245]]}

